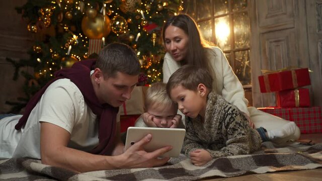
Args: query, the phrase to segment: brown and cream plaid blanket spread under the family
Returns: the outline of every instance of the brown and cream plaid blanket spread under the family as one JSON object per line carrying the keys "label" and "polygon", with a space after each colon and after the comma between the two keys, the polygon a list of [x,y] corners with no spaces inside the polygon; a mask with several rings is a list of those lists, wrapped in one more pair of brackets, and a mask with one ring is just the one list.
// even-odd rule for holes
{"label": "brown and cream plaid blanket spread under the family", "polygon": [[322,143],[305,145],[295,142],[279,147],[272,142],[264,142],[258,152],[217,158],[204,166],[194,166],[189,158],[181,154],[160,167],[75,173],[41,164],[40,160],[5,159],[0,160],[0,180],[196,180],[318,167],[322,167]]}

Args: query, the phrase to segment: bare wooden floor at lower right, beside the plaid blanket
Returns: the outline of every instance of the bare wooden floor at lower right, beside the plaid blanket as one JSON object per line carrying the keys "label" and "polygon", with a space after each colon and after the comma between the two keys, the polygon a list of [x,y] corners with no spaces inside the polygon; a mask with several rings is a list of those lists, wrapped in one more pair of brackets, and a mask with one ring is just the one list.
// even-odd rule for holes
{"label": "bare wooden floor at lower right, beside the plaid blanket", "polygon": [[[303,134],[299,140],[311,140],[312,143],[322,143],[322,133],[314,134]],[[300,171],[282,171],[274,173],[262,173],[262,174],[249,174],[243,176],[235,176],[230,178],[224,177],[212,177],[208,179],[203,179],[207,181],[321,181],[322,180],[322,168],[310,169],[310,170],[300,170]]]}

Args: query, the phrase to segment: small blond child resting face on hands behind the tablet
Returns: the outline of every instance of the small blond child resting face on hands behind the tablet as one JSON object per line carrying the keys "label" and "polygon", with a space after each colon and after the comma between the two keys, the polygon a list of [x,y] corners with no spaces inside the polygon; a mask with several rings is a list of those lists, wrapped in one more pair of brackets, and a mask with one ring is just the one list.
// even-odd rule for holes
{"label": "small blond child resting face on hands behind the tablet", "polygon": [[[144,121],[151,120],[153,127],[159,128],[185,128],[181,122],[181,115],[177,115],[178,105],[167,94],[167,84],[156,82],[147,89],[145,96],[146,113],[142,114],[135,122],[135,127],[149,127]],[[176,123],[179,122],[179,125]]]}

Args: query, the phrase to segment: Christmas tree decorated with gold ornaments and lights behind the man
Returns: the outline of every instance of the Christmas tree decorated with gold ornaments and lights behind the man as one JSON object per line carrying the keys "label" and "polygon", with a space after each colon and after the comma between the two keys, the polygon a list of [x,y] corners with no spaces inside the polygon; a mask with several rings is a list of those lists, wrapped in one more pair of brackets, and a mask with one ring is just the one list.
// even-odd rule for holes
{"label": "Christmas tree decorated with gold ornaments and lights behind the man", "polygon": [[[26,97],[7,102],[13,106],[11,112],[24,108],[56,70],[96,58],[111,42],[128,44],[137,52],[140,85],[161,81],[165,50],[160,31],[165,20],[182,9],[181,0],[28,0],[16,10],[37,36],[29,59],[7,59],[16,68],[14,79],[26,78]],[[34,73],[20,72],[24,66]]]}

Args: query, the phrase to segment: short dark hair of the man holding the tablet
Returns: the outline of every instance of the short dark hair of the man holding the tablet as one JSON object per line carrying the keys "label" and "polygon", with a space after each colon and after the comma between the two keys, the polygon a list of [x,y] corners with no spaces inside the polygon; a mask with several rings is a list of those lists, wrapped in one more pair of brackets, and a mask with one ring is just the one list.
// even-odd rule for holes
{"label": "short dark hair of the man holding the tablet", "polygon": [[140,63],[134,50],[123,43],[111,43],[104,47],[96,61],[96,67],[100,68],[106,77],[115,77],[117,72],[128,75],[140,73]]}

